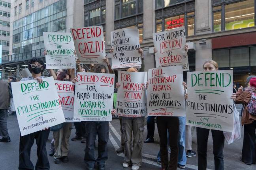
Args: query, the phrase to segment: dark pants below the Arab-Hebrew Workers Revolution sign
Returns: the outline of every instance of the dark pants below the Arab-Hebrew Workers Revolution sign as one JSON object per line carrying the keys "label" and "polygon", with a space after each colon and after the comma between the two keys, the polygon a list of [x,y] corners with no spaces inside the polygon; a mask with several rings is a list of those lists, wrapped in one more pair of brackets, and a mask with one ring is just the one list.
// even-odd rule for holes
{"label": "dark pants below the Arab-Hebrew Workers Revolution sign", "polygon": [[[87,122],[85,163],[94,165],[105,164],[107,160],[107,142],[109,140],[109,122]],[[94,157],[94,144],[98,135],[98,158]]]}

